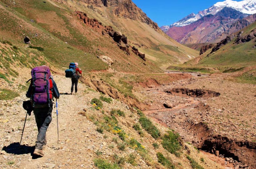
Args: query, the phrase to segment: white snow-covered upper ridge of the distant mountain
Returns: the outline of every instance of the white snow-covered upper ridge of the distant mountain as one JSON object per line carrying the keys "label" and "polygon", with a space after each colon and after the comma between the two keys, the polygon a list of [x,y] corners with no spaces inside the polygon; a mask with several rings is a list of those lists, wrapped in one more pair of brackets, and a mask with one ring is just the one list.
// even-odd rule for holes
{"label": "white snow-covered upper ridge of the distant mountain", "polygon": [[197,21],[198,19],[201,19],[202,17],[212,14],[215,15],[216,13],[218,13],[219,11],[221,11],[224,7],[230,7],[233,8],[235,10],[238,10],[244,14],[254,14],[256,13],[256,0],[244,0],[244,1],[232,1],[232,0],[226,0],[223,2],[217,2],[216,4],[214,4],[213,6],[209,7],[208,9],[205,9],[203,11],[199,11],[198,14],[194,14],[191,13],[188,16],[186,16],[185,18],[179,20],[178,22],[173,23],[170,26],[162,26],[164,28],[164,30],[161,29],[166,32],[167,27],[181,27],[181,26],[186,26],[189,25],[195,21]]}

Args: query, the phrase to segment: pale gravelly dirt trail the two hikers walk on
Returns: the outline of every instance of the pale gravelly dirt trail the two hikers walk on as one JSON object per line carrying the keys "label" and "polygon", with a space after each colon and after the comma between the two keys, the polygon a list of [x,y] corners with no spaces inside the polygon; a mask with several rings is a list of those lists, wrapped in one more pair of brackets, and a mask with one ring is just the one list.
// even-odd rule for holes
{"label": "pale gravelly dirt trail the two hikers walk on", "polygon": [[[64,76],[54,76],[54,80],[57,83],[60,93],[70,93],[71,80],[65,78]],[[65,95],[62,94],[60,99],[58,99],[58,120],[59,120],[59,139],[61,147],[58,150],[57,144],[57,118],[56,118],[56,109],[52,112],[52,122],[47,131],[47,148],[44,151],[45,156],[43,158],[32,159],[32,153],[35,145],[37,129],[35,124],[35,117],[32,113],[31,116],[28,116],[25,131],[22,139],[22,145],[19,146],[18,142],[20,140],[22,128],[24,121],[21,122],[21,118],[25,117],[25,112],[22,110],[22,101],[26,100],[24,97],[25,92],[21,93],[21,96],[16,98],[20,100],[19,103],[15,106],[12,106],[9,110],[9,122],[10,132],[6,133],[1,131],[0,145],[4,153],[4,158],[0,160],[0,168],[47,168],[52,166],[59,166],[59,168],[73,168],[71,163],[75,162],[79,166],[88,166],[92,168],[93,160],[93,151],[90,150],[91,147],[86,147],[88,144],[84,144],[86,135],[95,137],[97,133],[88,132],[91,131],[91,122],[82,121],[81,115],[78,115],[78,112],[86,108],[86,103],[89,102],[89,97],[84,97],[84,84],[78,84],[78,94],[77,95]],[[91,98],[91,96],[90,96]],[[16,110],[21,110],[19,114],[12,115]],[[9,126],[9,124],[6,124]],[[2,129],[7,126],[1,126]],[[17,126],[21,130],[17,129]],[[14,128],[12,132],[11,128]],[[101,140],[101,139],[97,139]],[[102,140],[101,140],[102,141]],[[13,142],[13,143],[12,143]],[[83,144],[83,145],[81,145]],[[101,145],[99,143],[91,143],[92,147],[94,144]],[[19,149],[19,150],[17,150]],[[86,150],[88,155],[81,154],[83,150]],[[90,153],[91,151],[91,153]],[[86,156],[86,158],[85,158]],[[14,161],[13,166],[6,165],[8,162]],[[2,163],[2,164],[1,164]]]}

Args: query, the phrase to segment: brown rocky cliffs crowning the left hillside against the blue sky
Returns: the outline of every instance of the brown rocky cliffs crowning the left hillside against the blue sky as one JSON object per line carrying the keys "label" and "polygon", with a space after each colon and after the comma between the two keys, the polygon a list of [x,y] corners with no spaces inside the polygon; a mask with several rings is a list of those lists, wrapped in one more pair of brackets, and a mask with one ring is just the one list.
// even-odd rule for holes
{"label": "brown rocky cliffs crowning the left hillside against the blue sky", "polygon": [[138,20],[150,25],[153,29],[160,31],[157,23],[153,22],[140,8],[131,0],[80,0],[94,6],[115,7],[115,15]]}

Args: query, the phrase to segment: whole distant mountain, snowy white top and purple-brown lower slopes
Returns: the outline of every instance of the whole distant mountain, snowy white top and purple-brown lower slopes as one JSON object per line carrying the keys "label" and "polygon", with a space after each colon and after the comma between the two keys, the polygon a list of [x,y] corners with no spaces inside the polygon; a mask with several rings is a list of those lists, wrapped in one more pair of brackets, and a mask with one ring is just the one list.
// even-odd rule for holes
{"label": "whole distant mountain, snowy white top and purple-brown lower slopes", "polygon": [[254,13],[256,0],[226,0],[170,26],[162,26],[161,30],[181,44],[216,43],[253,23]]}

